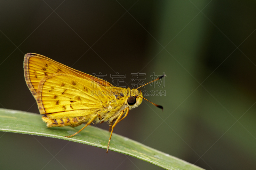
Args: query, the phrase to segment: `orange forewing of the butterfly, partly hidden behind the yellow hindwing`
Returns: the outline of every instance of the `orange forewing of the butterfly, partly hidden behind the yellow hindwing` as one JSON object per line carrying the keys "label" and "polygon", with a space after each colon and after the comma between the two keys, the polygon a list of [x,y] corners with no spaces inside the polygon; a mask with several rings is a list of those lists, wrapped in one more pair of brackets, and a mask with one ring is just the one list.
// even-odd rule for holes
{"label": "orange forewing of the butterfly, partly hidden behind the yellow hindwing", "polygon": [[47,76],[59,73],[83,79],[89,78],[101,86],[112,86],[105,80],[72,69],[43,55],[28,53],[24,57],[25,80],[29,90],[31,91],[35,99],[37,98],[37,89],[39,82]]}

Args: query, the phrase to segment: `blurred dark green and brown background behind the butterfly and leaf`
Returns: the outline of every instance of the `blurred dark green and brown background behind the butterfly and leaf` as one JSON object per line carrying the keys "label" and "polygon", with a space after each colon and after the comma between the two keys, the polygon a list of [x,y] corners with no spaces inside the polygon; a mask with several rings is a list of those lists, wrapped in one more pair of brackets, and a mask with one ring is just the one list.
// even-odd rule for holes
{"label": "blurred dark green and brown background behind the butterfly and leaf", "polygon": [[[165,72],[164,89],[143,89],[166,91],[147,96],[164,112],[143,102],[114,132],[205,169],[256,169],[255,9],[251,0],[0,1],[0,107],[39,114],[23,75],[28,52],[110,83],[116,72],[126,83]],[[1,169],[161,169],[35,138],[0,132]]]}

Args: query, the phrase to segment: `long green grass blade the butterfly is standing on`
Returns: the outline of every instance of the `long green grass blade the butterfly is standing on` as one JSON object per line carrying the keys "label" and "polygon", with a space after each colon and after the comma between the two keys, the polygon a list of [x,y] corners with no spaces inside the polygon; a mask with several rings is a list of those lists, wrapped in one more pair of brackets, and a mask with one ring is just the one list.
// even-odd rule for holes
{"label": "long green grass blade the butterfly is standing on", "polygon": [[[73,142],[89,144],[100,148],[107,148],[110,133],[97,127],[89,126],[75,137],[67,138],[74,134],[83,125],[72,128],[70,126],[47,128],[41,119],[42,115],[27,113],[17,110],[0,109],[0,131],[24,133],[45,137],[69,140]],[[124,153],[126,155],[145,160],[164,169],[202,169],[184,160],[157,151],[139,142],[114,134],[109,146],[110,151]],[[102,151],[106,152],[106,151]]]}

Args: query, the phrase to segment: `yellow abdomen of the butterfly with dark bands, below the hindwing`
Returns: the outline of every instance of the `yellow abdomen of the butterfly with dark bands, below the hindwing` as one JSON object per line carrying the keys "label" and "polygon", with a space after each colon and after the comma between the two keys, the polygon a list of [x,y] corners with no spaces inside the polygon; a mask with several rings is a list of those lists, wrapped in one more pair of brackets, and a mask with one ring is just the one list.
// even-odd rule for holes
{"label": "yellow abdomen of the butterfly with dark bands, below the hindwing", "polygon": [[70,117],[70,118],[57,118],[57,119],[50,119],[47,117],[47,115],[44,115],[42,117],[42,120],[47,123],[46,126],[48,128],[51,128],[51,127],[62,127],[62,126],[69,126],[69,125],[77,125],[77,124],[80,124],[80,123],[83,123],[83,122],[87,122],[85,119],[84,119],[84,116],[81,116],[81,117]]}

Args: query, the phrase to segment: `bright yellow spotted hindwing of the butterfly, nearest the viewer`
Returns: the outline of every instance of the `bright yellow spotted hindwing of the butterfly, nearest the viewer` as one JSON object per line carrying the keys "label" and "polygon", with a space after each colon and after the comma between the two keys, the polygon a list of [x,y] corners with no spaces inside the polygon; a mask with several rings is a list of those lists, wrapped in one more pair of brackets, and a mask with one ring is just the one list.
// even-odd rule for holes
{"label": "bright yellow spotted hindwing of the butterfly, nearest the viewer", "polygon": [[[37,89],[40,114],[46,114],[51,119],[94,115],[111,99],[106,94],[109,91],[96,84],[90,78],[61,73],[44,77]],[[97,91],[104,95],[96,95]]]}

